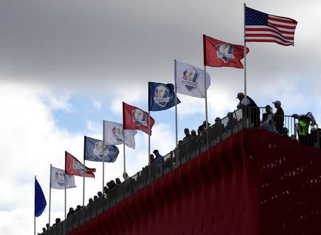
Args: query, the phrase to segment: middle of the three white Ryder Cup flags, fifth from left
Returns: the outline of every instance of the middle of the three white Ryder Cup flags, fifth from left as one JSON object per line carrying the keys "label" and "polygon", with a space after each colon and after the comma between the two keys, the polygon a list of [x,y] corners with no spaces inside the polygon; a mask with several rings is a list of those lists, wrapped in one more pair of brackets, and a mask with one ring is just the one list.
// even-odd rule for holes
{"label": "middle of the three white Ryder Cup flags, fifth from left", "polygon": [[[137,130],[125,130],[125,145],[135,149]],[[123,125],[117,122],[103,121],[103,145],[122,145]]]}

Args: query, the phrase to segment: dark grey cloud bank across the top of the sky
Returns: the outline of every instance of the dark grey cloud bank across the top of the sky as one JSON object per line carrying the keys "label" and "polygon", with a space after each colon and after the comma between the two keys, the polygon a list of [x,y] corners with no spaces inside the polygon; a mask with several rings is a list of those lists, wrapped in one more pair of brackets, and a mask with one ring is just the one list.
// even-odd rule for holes
{"label": "dark grey cloud bank across the top of the sky", "polygon": [[[320,4],[248,1],[267,13],[297,19],[295,47],[249,43],[254,88],[281,76],[318,82]],[[243,3],[237,1],[2,1],[0,78],[103,90],[111,81],[143,85],[173,80],[173,59],[202,66],[202,34],[242,44]],[[313,27],[312,27],[313,28]],[[218,85],[235,86],[243,71],[209,68]],[[320,85],[320,82],[318,82]],[[238,83],[237,83],[238,84]],[[115,83],[113,83],[115,85]],[[241,85],[242,86],[242,85]]]}

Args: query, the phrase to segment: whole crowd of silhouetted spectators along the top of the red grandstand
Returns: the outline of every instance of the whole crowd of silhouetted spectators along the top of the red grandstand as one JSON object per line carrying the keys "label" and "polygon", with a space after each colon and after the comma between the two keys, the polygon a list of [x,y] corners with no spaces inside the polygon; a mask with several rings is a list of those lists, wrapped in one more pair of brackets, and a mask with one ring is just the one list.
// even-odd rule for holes
{"label": "whole crowd of silhouetted spectators along the top of the red grandstand", "polygon": [[[242,110],[242,117],[238,120],[236,116],[234,117],[235,113],[228,113],[227,117],[228,120],[225,123],[225,125],[222,123],[222,119],[220,117],[215,118],[215,124],[210,129],[210,137],[213,139],[215,137],[218,137],[223,132],[228,132],[230,130],[233,130],[234,127],[238,126],[240,122],[243,122],[245,120],[248,120],[250,123],[249,125],[251,127],[254,127],[256,129],[263,129],[268,130],[270,132],[274,132],[275,134],[283,135],[285,137],[289,136],[289,130],[287,127],[285,127],[285,114],[282,109],[282,103],[280,100],[275,100],[272,102],[274,105],[276,112],[272,113],[272,108],[270,105],[265,106],[265,113],[262,115],[262,119],[260,118],[260,108],[255,103],[255,101],[250,98],[248,95],[244,95],[244,93],[238,93],[237,95],[238,100],[240,101],[237,105],[237,108]],[[315,125],[317,122],[315,121],[315,117],[312,115],[311,112],[307,112],[306,114],[297,115],[293,114],[292,117],[297,119],[297,126],[295,132],[297,132],[298,139],[300,142],[307,144],[307,145],[314,145],[315,140],[317,140],[317,136],[321,137],[321,130],[315,128]],[[310,128],[309,133],[309,127],[310,125],[312,128]],[[203,124],[198,127],[197,133],[195,130],[189,130],[188,128],[184,129],[185,137],[183,137],[183,140],[178,141],[178,148],[180,148],[185,142],[190,141],[196,136],[200,136],[201,142],[207,141],[207,135],[203,135],[205,130],[207,130],[207,127],[210,127],[210,123],[207,123],[206,121],[203,121]],[[203,138],[202,138],[203,137]],[[320,139],[319,139],[320,140]],[[319,146],[321,148],[321,146]],[[182,152],[183,153],[183,152]],[[175,161],[175,160],[173,160]],[[158,167],[158,164],[163,164],[163,156],[158,152],[158,150],[153,150],[153,154],[149,156],[149,164],[153,164],[155,168]],[[151,167],[153,170],[154,167]],[[131,181],[135,180],[131,177],[128,177],[128,174],[125,172],[123,174],[123,179],[125,181],[128,180],[129,186],[131,184]],[[103,188],[103,192],[98,192],[97,195],[93,196],[93,199],[88,199],[88,204],[96,202],[99,197],[104,197],[108,192],[110,192],[112,189],[118,187],[121,184],[121,179],[116,178],[115,181],[111,180],[107,182],[106,186]],[[83,207],[81,205],[78,205],[76,209],[73,209],[73,207],[69,208],[67,217],[71,216],[72,214],[76,213],[77,211],[81,210]],[[52,226],[56,226],[56,224],[60,223],[61,219],[57,218],[56,223]],[[43,231],[49,230],[51,227],[49,224],[46,224],[46,228],[43,228]]]}

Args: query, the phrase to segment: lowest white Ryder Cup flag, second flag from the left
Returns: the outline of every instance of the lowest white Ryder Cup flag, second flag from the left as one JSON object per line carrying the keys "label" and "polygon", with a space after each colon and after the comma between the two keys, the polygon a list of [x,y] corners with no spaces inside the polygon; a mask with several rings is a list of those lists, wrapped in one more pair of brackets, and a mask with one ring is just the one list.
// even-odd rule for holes
{"label": "lowest white Ryder Cup flag, second flag from the left", "polygon": [[65,174],[63,169],[51,167],[51,189],[65,189],[65,177],[66,177],[66,189],[75,188],[75,177],[73,175]]}

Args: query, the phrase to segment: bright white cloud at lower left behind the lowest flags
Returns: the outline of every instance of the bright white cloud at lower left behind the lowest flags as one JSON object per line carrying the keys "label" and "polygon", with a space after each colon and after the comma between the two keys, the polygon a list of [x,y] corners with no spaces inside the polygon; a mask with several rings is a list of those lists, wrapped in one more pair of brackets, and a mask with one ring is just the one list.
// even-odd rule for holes
{"label": "bright white cloud at lower left behind the lowest flags", "polygon": [[[44,91],[47,88],[1,83],[0,99],[0,149],[1,149],[1,193],[0,194],[0,234],[31,234],[33,232],[34,175],[36,174],[49,204],[49,165],[63,169],[64,151],[71,152],[79,160],[83,156],[83,135],[71,134],[61,129],[55,122],[52,106],[46,105]],[[51,93],[52,94],[52,93]],[[54,98],[59,100],[59,97]],[[98,123],[87,121],[92,137],[99,137]],[[153,127],[152,150],[158,148],[164,155],[174,145],[169,124]],[[96,132],[98,131],[98,132]],[[126,171],[136,174],[148,162],[148,135],[139,132],[136,150],[126,147]],[[161,141],[160,141],[161,140]],[[123,146],[113,164],[105,164],[105,182],[123,173]],[[96,167],[96,179],[86,179],[85,203],[101,191],[101,163],[86,162],[88,167]],[[75,189],[68,189],[67,207],[82,204],[82,178],[76,177]],[[23,198],[21,200],[21,198]],[[63,218],[63,190],[52,189],[51,223],[56,217]],[[28,219],[29,218],[29,219]],[[48,207],[37,218],[36,231],[48,222]],[[19,224],[19,226],[16,226]]]}

